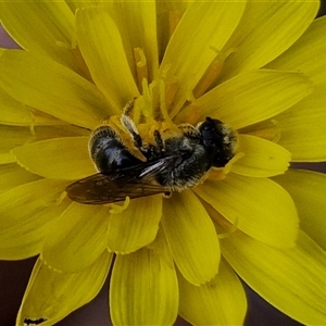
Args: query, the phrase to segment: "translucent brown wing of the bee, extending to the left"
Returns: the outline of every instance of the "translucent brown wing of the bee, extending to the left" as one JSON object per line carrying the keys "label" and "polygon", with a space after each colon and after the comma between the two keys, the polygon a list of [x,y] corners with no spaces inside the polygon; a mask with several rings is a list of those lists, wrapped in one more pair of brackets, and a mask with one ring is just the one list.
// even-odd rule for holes
{"label": "translucent brown wing of the bee, extending to the left", "polygon": [[68,198],[85,204],[105,204],[170,192],[155,184],[154,176],[171,165],[172,158],[146,162],[136,166],[98,173],[66,187]]}

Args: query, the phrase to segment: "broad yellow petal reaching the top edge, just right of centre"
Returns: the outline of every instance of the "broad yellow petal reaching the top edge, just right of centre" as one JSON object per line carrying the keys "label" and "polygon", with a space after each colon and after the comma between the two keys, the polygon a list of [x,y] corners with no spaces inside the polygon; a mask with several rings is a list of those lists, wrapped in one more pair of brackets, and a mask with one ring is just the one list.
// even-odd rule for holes
{"label": "broad yellow petal reaching the top edge, just right of centre", "polygon": [[[211,62],[235,30],[244,1],[193,2],[187,8],[167,45],[160,71],[167,83],[177,78],[173,112],[189,98]],[[173,115],[175,115],[173,113]]]}

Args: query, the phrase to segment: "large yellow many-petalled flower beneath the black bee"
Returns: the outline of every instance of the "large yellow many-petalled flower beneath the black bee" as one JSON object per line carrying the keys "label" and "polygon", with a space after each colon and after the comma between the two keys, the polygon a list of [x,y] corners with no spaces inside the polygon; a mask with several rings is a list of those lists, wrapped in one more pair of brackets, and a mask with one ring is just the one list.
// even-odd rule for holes
{"label": "large yellow many-petalled flower beneath the black bee", "polygon": [[[0,3],[24,49],[0,52],[0,256],[40,254],[18,325],[62,319],[99,292],[110,268],[116,325],[167,325],[177,314],[241,324],[237,275],[292,318],[326,323],[326,178],[289,168],[326,160],[326,20],[313,21],[317,9]],[[210,116],[237,131],[235,158],[170,198],[73,202],[65,188],[96,173],[90,130],[135,97],[143,137],[160,121]]]}

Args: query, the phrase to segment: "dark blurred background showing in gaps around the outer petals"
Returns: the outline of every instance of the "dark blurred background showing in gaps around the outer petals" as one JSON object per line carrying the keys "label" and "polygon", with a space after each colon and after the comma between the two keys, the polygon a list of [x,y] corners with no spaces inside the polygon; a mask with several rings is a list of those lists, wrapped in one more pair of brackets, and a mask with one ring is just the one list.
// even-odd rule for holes
{"label": "dark blurred background showing in gaps around the outer petals", "polygon": [[[303,0],[306,1],[306,0]],[[326,0],[322,0],[319,16],[326,14]],[[0,47],[14,47],[14,42],[0,30]],[[312,164],[312,170],[326,172],[326,163]],[[7,262],[0,261],[0,325],[14,326],[21,300],[24,296],[36,259]],[[300,323],[284,315],[246,284],[243,284],[249,300],[246,326],[299,326]],[[82,306],[61,321],[59,326],[109,326],[108,319],[108,281],[99,296],[89,304]],[[189,325],[178,319],[176,325]]]}

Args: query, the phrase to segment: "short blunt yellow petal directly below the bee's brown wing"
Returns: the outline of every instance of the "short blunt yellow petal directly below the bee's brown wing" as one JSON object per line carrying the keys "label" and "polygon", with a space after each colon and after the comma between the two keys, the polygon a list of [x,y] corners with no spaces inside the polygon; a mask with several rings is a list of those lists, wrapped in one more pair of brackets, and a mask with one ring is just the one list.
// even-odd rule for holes
{"label": "short blunt yellow petal directly below the bee's brown wing", "polygon": [[129,253],[149,244],[156,236],[161,216],[160,196],[131,200],[126,210],[110,216],[108,249]]}

